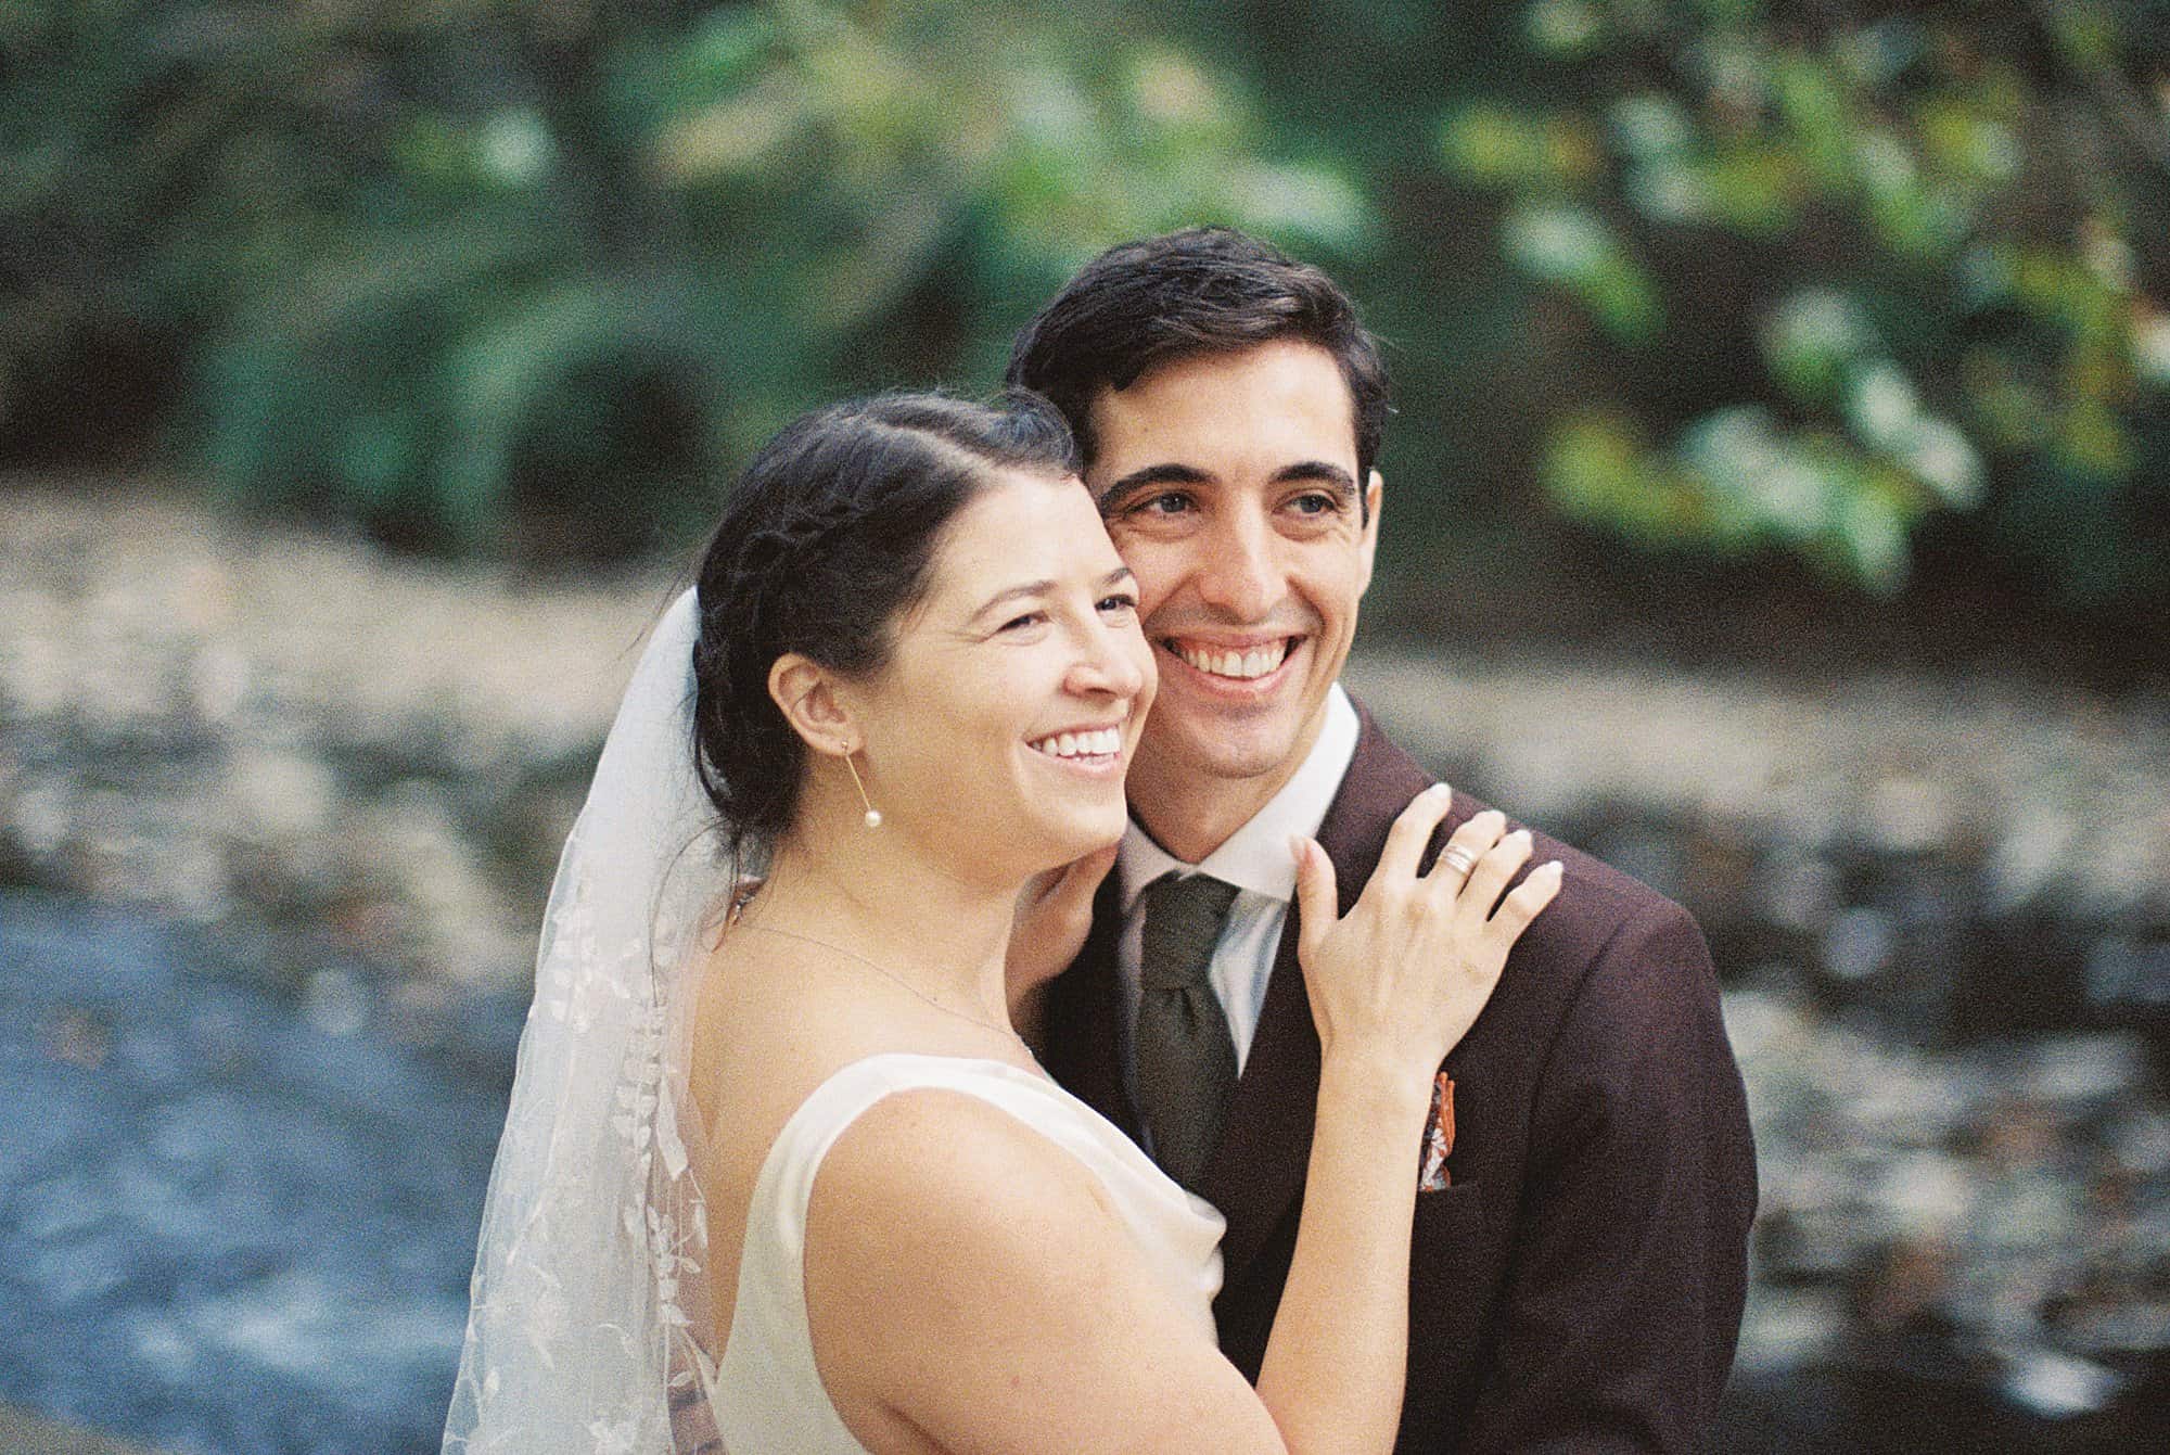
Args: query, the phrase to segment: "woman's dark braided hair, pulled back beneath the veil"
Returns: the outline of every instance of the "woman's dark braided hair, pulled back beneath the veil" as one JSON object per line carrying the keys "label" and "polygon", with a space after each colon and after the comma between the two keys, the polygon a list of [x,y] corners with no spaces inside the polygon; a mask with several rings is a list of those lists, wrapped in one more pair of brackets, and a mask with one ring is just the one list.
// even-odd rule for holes
{"label": "woman's dark braided hair, pulled back beneath the veil", "polygon": [[694,771],[733,856],[790,827],[805,777],[768,669],[799,651],[846,678],[881,671],[942,528],[998,469],[1078,473],[1070,428],[1039,395],[831,404],[746,465],[701,560],[692,651]]}

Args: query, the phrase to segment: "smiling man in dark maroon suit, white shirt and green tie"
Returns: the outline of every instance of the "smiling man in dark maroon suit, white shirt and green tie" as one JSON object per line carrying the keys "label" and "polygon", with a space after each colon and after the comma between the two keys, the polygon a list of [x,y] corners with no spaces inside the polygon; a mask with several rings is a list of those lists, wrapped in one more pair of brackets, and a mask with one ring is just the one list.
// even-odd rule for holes
{"label": "smiling man in dark maroon suit, white shirt and green tie", "polygon": [[[1378,541],[1384,367],[1322,271],[1204,228],[1087,263],[1018,337],[1009,382],[1070,417],[1161,675],[1131,832],[1046,995],[1046,1064],[1148,1147],[1148,1125],[1207,1129],[1189,1166],[1174,1136],[1154,1151],[1228,1218],[1213,1312],[1256,1379],[1319,1071],[1289,838],[1319,840],[1348,912],[1430,782],[1337,682]],[[1441,843],[1482,808],[1456,795]],[[1397,1448],[1697,1451],[1756,1212],[1740,1073],[1686,912],[1539,834],[1530,862],[1547,858],[1565,886],[1445,1062]],[[1176,951],[1148,949],[1144,890],[1191,869],[1233,886],[1209,895],[1217,934],[1209,919],[1196,964],[1148,964]],[[1211,986],[1235,1051],[1200,1058],[1178,1105],[1133,1051],[1141,977],[1167,973]]]}

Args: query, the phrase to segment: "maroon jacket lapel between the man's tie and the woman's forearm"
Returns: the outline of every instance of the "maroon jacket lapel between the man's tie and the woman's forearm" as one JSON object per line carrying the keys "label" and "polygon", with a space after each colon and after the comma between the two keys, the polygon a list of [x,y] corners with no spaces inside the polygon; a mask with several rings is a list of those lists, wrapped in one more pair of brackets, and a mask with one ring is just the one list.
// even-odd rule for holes
{"label": "maroon jacket lapel between the man's tie and the woman's forearm", "polygon": [[[1393,817],[1432,780],[1393,747],[1358,706],[1361,732],[1350,771],[1319,823],[1319,847],[1335,864],[1339,912],[1371,880]],[[1224,1286],[1239,1279],[1304,1186],[1319,1099],[1319,1036],[1311,1021],[1304,971],[1295,958],[1298,908],[1280,932],[1259,1029],[1228,1103],[1228,1125],[1207,1164],[1204,1194],[1228,1218],[1222,1238]],[[1417,1147],[1408,1149],[1410,1160]]]}

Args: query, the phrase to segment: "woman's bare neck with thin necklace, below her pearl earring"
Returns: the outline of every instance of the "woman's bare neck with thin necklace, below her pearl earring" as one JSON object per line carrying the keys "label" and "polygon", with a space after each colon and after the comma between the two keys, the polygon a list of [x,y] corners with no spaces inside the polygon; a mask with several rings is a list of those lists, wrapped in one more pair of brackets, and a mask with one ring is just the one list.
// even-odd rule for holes
{"label": "woman's bare neck with thin necklace, below her pearl earring", "polygon": [[966,880],[898,825],[866,827],[853,810],[803,817],[777,843],[746,914],[1007,1025],[1003,960],[1016,903],[1016,888]]}

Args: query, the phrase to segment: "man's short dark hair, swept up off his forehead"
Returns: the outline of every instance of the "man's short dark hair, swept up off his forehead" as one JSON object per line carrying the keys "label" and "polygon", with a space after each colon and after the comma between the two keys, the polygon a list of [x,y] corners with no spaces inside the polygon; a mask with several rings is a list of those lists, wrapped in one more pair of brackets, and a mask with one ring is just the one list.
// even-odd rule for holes
{"label": "man's short dark hair, swept up off his forehead", "polygon": [[1332,278],[1235,228],[1185,228],[1102,252],[1018,334],[1007,382],[1046,395],[1092,460],[1102,389],[1128,389],[1176,358],[1280,339],[1315,343],[1341,365],[1363,482],[1389,413],[1378,339]]}

